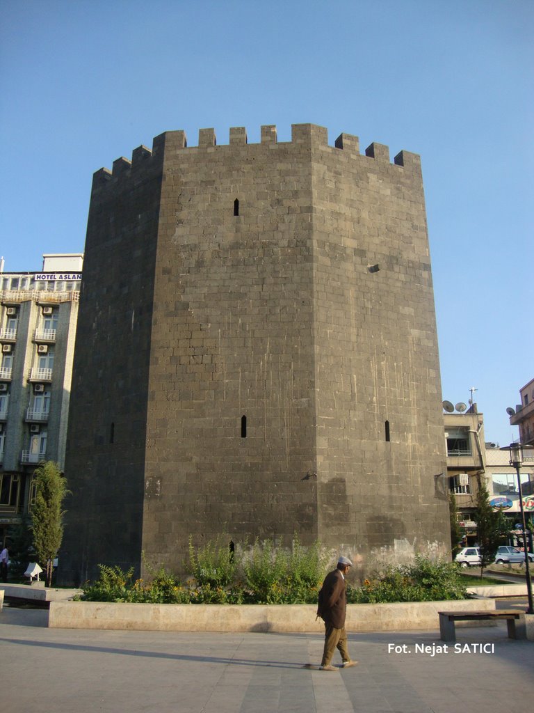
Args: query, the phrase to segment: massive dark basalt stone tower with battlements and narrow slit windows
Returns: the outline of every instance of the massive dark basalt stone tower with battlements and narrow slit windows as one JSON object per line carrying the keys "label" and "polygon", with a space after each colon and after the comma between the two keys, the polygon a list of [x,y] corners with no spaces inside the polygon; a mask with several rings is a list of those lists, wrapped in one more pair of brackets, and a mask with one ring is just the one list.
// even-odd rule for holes
{"label": "massive dark basalt stone tower with battlements and narrow slit windows", "polygon": [[446,554],[441,411],[419,156],[269,125],[95,173],[63,580],[189,535]]}

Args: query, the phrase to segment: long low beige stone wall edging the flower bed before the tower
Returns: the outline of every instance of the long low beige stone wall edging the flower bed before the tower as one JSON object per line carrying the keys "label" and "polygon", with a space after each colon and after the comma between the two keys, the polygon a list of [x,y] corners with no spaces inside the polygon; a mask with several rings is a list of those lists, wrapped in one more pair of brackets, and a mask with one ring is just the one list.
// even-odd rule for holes
{"label": "long low beige stone wall edging the flower bed before the tower", "polygon": [[[442,610],[493,610],[494,600],[350,604],[350,632],[439,629]],[[205,632],[323,633],[316,605],[196,605],[51,602],[48,626],[63,629],[120,629]]]}

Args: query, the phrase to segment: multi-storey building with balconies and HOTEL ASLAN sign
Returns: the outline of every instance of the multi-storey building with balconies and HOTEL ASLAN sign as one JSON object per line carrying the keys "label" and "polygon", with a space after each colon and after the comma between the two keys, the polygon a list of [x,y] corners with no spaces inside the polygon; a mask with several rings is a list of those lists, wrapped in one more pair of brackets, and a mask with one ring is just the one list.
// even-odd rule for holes
{"label": "multi-storey building with balconies and HOTEL ASLAN sign", "polygon": [[40,272],[0,265],[0,543],[19,525],[41,461],[64,466],[83,254]]}

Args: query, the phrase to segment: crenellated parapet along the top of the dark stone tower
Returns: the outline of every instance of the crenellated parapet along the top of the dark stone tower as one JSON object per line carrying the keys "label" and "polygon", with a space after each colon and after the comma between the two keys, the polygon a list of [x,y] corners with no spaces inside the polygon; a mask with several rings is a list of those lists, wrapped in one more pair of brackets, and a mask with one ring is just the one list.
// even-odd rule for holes
{"label": "crenellated parapet along the top of the dark stone tower", "polygon": [[389,159],[389,147],[387,145],[373,142],[360,153],[360,141],[357,136],[341,133],[333,146],[328,145],[328,131],[323,126],[316,124],[292,124],[291,140],[278,141],[276,125],[268,124],[261,126],[260,142],[248,143],[248,136],[244,126],[234,126],[229,130],[229,143],[218,144],[214,128],[199,129],[197,146],[188,146],[187,137],[183,130],[166,131],[154,138],[152,150],[144,145],[135,148],[132,152],[132,160],[125,157],[117,158],[113,161],[112,170],[100,168],[93,176],[93,188],[105,183],[115,182],[127,175],[135,175],[137,171],[145,170],[151,163],[157,162],[159,165],[163,160],[164,152],[177,152],[187,150],[191,152],[213,152],[219,150],[244,150],[244,148],[256,148],[261,146],[280,145],[288,147],[294,145],[295,148],[330,148],[331,150],[342,150],[351,158],[371,158],[379,164],[389,164],[404,168],[406,170],[420,170],[420,158],[416,153],[400,151],[391,164]]}

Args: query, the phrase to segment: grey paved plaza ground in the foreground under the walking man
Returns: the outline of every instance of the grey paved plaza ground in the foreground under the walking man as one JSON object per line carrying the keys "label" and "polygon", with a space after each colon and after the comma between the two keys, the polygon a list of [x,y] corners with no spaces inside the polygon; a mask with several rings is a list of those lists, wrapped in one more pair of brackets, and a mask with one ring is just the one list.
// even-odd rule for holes
{"label": "grey paved plaza ground in the foreground under the walking man", "polygon": [[439,630],[350,635],[360,664],[321,672],[303,668],[319,635],[61,630],[47,616],[0,612],[3,713],[516,713],[533,698],[534,643],[503,622],[459,629],[460,652]]}

